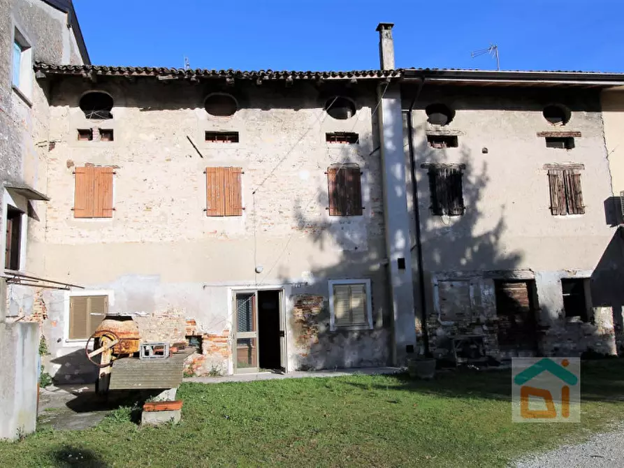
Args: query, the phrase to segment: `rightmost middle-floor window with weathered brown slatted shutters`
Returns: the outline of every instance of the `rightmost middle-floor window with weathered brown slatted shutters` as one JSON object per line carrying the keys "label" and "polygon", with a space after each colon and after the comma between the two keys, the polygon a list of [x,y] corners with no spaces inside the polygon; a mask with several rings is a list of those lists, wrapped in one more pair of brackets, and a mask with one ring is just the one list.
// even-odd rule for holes
{"label": "rightmost middle-floor window with weathered brown slatted shutters", "polygon": [[583,193],[581,191],[581,175],[572,169],[551,169],[548,171],[551,195],[551,213],[565,216],[567,214],[585,213]]}

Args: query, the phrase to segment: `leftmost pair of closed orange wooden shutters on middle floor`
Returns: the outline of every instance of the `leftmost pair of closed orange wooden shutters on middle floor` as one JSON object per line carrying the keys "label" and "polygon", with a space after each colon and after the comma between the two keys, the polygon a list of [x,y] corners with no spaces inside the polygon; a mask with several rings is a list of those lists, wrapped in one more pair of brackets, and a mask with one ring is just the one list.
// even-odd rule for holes
{"label": "leftmost pair of closed orange wooden shutters on middle floor", "polygon": [[75,168],[73,217],[113,217],[113,168]]}

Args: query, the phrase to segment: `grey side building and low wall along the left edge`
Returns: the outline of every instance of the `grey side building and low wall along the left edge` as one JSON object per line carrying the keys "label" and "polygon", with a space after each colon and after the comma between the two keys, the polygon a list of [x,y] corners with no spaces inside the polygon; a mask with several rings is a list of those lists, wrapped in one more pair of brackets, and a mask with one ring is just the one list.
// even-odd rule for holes
{"label": "grey side building and low wall along the left edge", "polygon": [[0,11],[0,439],[15,439],[35,429],[41,336],[31,307],[38,291],[5,279],[42,265],[29,244],[43,233],[49,106],[33,65],[89,57],[71,1],[1,0]]}

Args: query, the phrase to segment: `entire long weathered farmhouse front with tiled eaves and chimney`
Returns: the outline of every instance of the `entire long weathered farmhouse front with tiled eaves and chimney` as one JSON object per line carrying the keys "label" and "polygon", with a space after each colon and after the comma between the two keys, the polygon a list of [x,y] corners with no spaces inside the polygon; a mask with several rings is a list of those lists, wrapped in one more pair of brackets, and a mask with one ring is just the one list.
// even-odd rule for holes
{"label": "entire long weathered farmhouse front with tiled eaves and chimney", "polygon": [[36,64],[29,271],[83,289],[10,307],[58,381],[105,314],[196,374],[616,353],[621,75],[395,70],[391,29],[379,71]]}

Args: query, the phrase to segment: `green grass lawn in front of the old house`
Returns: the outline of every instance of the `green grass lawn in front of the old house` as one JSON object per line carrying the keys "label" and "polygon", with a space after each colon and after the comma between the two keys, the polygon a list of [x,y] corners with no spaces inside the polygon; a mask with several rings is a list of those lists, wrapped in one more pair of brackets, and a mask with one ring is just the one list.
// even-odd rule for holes
{"label": "green grass lawn in front of the old house", "polygon": [[89,430],[0,442],[0,466],[505,466],[624,418],[624,360],[583,365],[580,424],[511,423],[510,382],[497,371],[184,383],[179,425],[138,427],[120,408]]}

